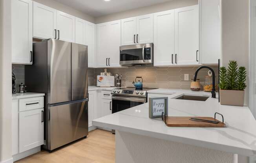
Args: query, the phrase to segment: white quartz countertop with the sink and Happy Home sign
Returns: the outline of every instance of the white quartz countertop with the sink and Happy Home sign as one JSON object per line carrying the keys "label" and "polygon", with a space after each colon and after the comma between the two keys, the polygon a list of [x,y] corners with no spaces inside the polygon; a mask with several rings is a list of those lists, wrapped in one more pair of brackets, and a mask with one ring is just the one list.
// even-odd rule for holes
{"label": "white quartz countertop with the sink and Happy Home sign", "polygon": [[[156,89],[148,93],[168,96],[168,116],[224,116],[225,128],[167,127],[161,118],[148,118],[148,103],[93,120],[93,125],[166,139],[244,156],[256,156],[256,120],[248,107],[220,105],[218,98],[206,101],[173,99],[183,94],[211,96],[209,92]],[[218,95],[217,95],[218,96]],[[217,119],[221,120],[220,116]]]}

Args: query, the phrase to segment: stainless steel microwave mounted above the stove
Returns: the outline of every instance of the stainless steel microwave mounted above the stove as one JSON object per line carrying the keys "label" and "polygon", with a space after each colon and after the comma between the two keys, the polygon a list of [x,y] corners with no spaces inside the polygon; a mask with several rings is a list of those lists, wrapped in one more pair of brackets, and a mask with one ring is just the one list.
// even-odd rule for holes
{"label": "stainless steel microwave mounted above the stove", "polygon": [[153,65],[153,43],[121,46],[120,65]]}

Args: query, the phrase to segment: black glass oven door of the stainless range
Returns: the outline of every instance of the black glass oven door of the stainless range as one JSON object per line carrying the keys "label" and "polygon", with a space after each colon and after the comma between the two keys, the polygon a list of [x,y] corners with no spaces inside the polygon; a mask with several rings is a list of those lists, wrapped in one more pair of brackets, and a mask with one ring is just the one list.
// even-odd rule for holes
{"label": "black glass oven door of the stainless range", "polygon": [[112,96],[112,113],[146,103],[146,98]]}

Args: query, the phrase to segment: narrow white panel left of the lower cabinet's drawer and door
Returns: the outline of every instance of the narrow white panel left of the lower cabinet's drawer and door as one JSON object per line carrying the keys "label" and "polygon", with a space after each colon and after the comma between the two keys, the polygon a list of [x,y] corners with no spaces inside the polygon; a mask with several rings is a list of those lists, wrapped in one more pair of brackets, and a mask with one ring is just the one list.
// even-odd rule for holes
{"label": "narrow white panel left of the lower cabinet's drawer and door", "polygon": [[18,151],[18,100],[12,100],[11,103],[11,119],[12,119],[12,155],[17,154]]}

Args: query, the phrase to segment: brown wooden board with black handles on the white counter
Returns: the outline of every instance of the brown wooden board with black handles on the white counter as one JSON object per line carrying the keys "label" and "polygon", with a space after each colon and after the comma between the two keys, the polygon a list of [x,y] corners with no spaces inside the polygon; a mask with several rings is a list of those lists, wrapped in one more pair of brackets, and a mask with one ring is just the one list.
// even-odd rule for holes
{"label": "brown wooden board with black handles on the white counter", "polygon": [[[192,121],[190,118],[199,118],[203,120],[218,121],[218,124],[202,122],[202,121]],[[215,120],[212,117],[167,117],[165,119],[165,124],[168,127],[226,127],[225,123],[219,120]]]}

